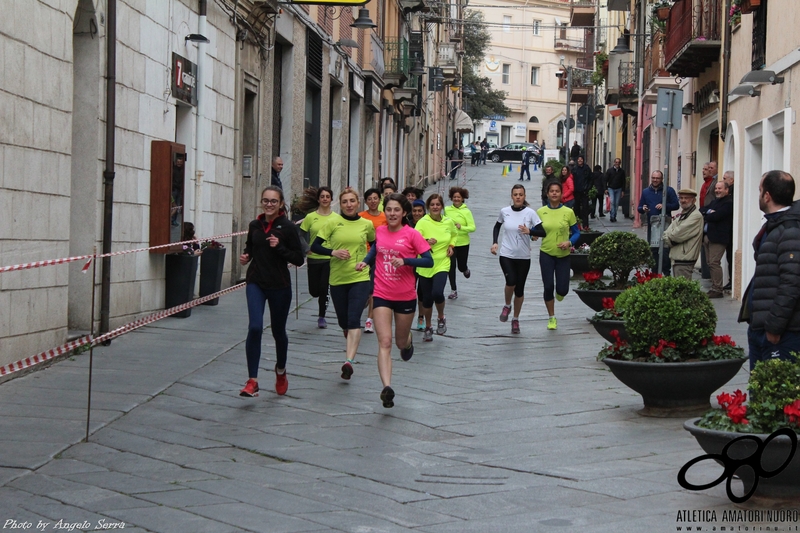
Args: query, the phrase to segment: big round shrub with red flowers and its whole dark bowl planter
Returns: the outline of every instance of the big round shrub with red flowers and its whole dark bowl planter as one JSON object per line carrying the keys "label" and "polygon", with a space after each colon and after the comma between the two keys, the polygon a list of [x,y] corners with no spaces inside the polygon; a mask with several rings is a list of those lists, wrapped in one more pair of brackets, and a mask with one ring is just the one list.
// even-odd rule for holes
{"label": "big round shrub with red flowers and its whole dark bowl planter", "polygon": [[745,361],[728,336],[716,336],[717,314],[696,282],[658,278],[626,291],[616,307],[628,341],[597,356],[620,381],[642,395],[647,416],[702,413],[709,397]]}

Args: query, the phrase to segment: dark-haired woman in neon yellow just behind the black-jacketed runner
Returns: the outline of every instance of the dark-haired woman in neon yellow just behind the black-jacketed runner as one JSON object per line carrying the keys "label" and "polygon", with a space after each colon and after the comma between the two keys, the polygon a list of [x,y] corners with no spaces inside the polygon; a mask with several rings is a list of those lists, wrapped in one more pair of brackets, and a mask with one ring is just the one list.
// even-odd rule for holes
{"label": "dark-haired woman in neon yellow just behind the black-jacketed runner", "polygon": [[[300,229],[309,244],[317,238],[317,233],[331,220],[339,218],[338,213],[331,210],[333,191],[330,187],[316,189],[309,187],[303,191],[299,208],[303,213],[308,213],[300,224]],[[331,274],[331,258],[327,255],[308,253],[308,293],[312,298],[318,299],[319,318],[317,327],[325,329],[328,323],[325,313],[328,310],[328,281]]]}

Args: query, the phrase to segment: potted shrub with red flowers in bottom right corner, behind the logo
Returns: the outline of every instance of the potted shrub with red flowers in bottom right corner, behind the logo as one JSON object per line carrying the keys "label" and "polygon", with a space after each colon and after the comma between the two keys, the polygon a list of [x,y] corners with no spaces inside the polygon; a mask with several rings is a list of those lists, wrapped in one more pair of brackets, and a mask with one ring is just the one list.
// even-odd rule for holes
{"label": "potted shrub with red flowers in bottom right corner, behind the logo", "polygon": [[760,479],[749,468],[738,469],[736,474],[744,484],[746,495],[752,491],[757,497],[797,502],[800,498],[800,453],[790,457],[790,432],[800,434],[800,361],[759,361],[750,372],[747,388],[750,392],[747,405],[747,394],[741,390],[722,393],[717,396],[721,409],[711,409],[702,418],[686,421],[684,429],[697,439],[706,453],[719,454],[724,450],[730,458],[754,456],[760,445],[751,438],[733,444],[731,441],[750,435],[765,442],[772,433],[783,431],[786,434],[770,439],[769,445],[759,452],[765,471],[778,469],[788,458],[783,471]]}

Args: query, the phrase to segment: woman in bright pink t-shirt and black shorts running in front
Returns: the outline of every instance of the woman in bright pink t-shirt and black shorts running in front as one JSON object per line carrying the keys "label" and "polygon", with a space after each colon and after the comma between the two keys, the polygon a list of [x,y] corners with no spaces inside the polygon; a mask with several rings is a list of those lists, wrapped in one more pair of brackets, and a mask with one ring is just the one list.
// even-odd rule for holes
{"label": "woman in bright pink t-shirt and black shorts running in front", "polygon": [[[383,390],[384,407],[394,406],[392,390],[392,318],[395,324],[395,344],[400,357],[408,361],[414,354],[411,342],[411,323],[417,310],[415,267],[433,266],[431,247],[420,233],[408,225],[411,203],[402,194],[389,195],[383,206],[386,226],[375,230],[375,246],[356,270],[374,263],[375,332],[378,335],[378,374]],[[419,256],[419,257],[418,257]]]}

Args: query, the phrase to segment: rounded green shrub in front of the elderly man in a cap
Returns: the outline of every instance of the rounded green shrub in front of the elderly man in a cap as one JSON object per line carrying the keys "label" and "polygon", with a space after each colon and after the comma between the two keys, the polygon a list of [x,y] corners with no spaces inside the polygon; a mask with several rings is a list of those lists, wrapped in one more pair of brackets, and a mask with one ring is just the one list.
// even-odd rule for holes
{"label": "rounded green shrub in front of the elderly man in a cap", "polygon": [[614,275],[610,288],[624,289],[633,269],[653,265],[653,253],[650,244],[633,233],[609,231],[592,243],[589,265],[599,270],[610,270]]}

